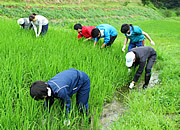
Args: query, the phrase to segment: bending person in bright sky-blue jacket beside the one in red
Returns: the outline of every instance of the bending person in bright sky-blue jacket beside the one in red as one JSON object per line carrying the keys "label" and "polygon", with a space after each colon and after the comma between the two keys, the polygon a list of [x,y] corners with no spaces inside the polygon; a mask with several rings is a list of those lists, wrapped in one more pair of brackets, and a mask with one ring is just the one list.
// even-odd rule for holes
{"label": "bending person in bright sky-blue jacket beside the one in red", "polygon": [[111,46],[117,37],[117,30],[109,24],[100,24],[91,31],[91,36],[95,38],[94,46],[96,46],[100,38],[104,38],[101,48]]}

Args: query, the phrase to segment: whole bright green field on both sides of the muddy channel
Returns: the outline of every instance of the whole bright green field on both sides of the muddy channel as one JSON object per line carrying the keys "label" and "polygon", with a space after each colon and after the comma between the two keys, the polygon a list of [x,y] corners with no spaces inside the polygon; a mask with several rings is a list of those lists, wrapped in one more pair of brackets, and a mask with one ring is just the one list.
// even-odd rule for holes
{"label": "whole bright green field on both sides of the muddy channel", "polygon": [[[120,27],[126,19],[88,22],[88,25],[93,26],[106,22],[118,30],[118,37],[112,47],[100,50],[103,39],[96,47],[93,47],[93,41],[78,40],[77,32],[73,30],[78,20],[62,26],[61,23],[55,24],[53,18],[49,17],[48,33],[36,38],[33,30],[19,29],[16,22],[18,17],[12,17],[11,13],[7,13],[7,16],[2,11],[1,8],[0,129],[101,129],[103,126],[99,120],[104,104],[111,102],[114,93],[121,87],[128,87],[134,74],[128,73],[125,53],[121,51],[125,37],[120,33]],[[116,15],[116,11],[113,12]],[[84,17],[89,18],[87,15]],[[151,12],[149,15],[153,16]],[[157,18],[158,13],[154,16]],[[153,71],[159,73],[160,83],[146,91],[135,88],[129,91],[125,99],[119,98],[126,110],[106,129],[179,129],[180,22],[162,16],[157,19],[129,17],[128,20],[128,23],[140,26],[155,41],[153,48],[158,57]],[[151,46],[148,40],[146,46]],[[64,110],[58,100],[49,113],[43,110],[43,101],[37,102],[30,97],[32,82],[48,81],[69,68],[82,70],[90,77],[91,124],[88,124],[86,117],[78,114],[75,96],[72,97],[73,113],[69,127],[63,123]],[[144,74],[140,80],[143,77]]]}

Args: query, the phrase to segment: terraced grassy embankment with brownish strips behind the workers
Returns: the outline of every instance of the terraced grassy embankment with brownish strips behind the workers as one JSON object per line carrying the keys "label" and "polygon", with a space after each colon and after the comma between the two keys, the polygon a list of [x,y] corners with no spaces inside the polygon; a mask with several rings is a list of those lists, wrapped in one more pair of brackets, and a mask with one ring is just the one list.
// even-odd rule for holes
{"label": "terraced grassy embankment with brownish strips behind the workers", "polygon": [[91,2],[81,5],[39,5],[36,4],[9,4],[1,3],[0,15],[9,18],[28,17],[31,13],[36,12],[46,16],[51,25],[60,24],[72,28],[74,23],[84,25],[94,25],[100,23],[110,23],[118,27],[122,23],[130,23],[145,20],[161,20],[163,17],[157,11],[151,8],[138,6],[137,3],[129,3],[124,6],[121,2]]}

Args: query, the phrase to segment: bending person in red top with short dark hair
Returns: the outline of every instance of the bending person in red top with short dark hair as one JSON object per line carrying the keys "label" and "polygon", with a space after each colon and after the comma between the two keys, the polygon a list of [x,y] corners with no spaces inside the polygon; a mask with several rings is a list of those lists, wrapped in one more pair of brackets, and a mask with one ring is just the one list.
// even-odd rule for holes
{"label": "bending person in red top with short dark hair", "polygon": [[84,41],[87,41],[89,39],[92,39],[93,37],[91,36],[91,31],[95,28],[96,26],[82,26],[80,23],[74,25],[74,30],[78,32],[78,38],[85,37]]}

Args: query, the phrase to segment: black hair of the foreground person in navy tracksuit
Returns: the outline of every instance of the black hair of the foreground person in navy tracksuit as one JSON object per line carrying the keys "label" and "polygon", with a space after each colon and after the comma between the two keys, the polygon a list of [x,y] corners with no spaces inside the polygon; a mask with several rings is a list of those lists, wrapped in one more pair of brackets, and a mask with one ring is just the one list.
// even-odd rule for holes
{"label": "black hair of the foreground person in navy tracksuit", "polygon": [[35,81],[30,88],[30,95],[35,100],[44,99],[43,96],[47,96],[48,84],[44,81]]}

